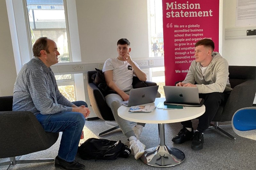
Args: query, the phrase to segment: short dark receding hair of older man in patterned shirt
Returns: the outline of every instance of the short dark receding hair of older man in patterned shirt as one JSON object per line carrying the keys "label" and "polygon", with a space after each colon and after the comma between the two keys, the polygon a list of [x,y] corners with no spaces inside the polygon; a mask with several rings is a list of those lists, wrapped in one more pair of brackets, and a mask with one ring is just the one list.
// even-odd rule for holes
{"label": "short dark receding hair of older man in patterned shirt", "polygon": [[36,40],[35,44],[33,45],[33,54],[35,57],[40,57],[41,50],[45,50],[47,53],[50,53],[47,40],[49,40],[47,37],[40,37]]}

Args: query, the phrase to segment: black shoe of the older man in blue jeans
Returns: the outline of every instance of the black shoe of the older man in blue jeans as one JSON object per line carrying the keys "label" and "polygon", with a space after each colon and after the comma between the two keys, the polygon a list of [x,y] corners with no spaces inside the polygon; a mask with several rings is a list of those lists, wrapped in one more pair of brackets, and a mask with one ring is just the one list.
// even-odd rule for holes
{"label": "black shoe of the older man in blue jeans", "polygon": [[56,158],[55,158],[54,166],[58,167],[60,169],[66,169],[66,170],[82,170],[82,169],[84,169],[83,164],[80,164],[76,161],[67,162],[63,159],[60,159],[58,156],[56,156]]}

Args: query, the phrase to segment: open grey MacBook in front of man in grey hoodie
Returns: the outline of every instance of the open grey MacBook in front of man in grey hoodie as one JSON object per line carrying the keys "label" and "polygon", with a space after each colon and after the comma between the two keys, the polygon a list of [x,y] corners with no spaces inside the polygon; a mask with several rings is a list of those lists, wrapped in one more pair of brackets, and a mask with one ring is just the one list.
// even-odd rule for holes
{"label": "open grey MacBook in front of man in grey hoodie", "polygon": [[164,86],[164,104],[201,106],[204,100],[198,97],[197,87]]}

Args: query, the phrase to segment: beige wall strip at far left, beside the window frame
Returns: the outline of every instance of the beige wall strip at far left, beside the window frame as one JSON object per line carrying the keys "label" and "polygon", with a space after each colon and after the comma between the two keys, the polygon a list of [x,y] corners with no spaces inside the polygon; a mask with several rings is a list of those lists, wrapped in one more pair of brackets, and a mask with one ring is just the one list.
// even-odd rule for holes
{"label": "beige wall strip at far left, beside the window frame", "polygon": [[5,1],[0,1],[0,16],[0,96],[9,96],[17,74]]}

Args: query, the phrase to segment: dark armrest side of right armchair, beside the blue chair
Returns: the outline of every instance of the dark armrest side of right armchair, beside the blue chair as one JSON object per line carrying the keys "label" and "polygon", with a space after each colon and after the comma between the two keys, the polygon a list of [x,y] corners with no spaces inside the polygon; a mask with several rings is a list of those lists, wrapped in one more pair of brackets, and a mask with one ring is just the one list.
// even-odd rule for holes
{"label": "dark armrest side of right armchair, beside the blue chair", "polygon": [[252,107],[255,93],[256,80],[248,79],[245,82],[236,85],[230,92],[222,115],[228,116],[228,119],[231,120],[232,116],[238,109],[244,107]]}

